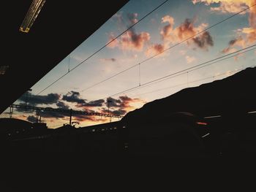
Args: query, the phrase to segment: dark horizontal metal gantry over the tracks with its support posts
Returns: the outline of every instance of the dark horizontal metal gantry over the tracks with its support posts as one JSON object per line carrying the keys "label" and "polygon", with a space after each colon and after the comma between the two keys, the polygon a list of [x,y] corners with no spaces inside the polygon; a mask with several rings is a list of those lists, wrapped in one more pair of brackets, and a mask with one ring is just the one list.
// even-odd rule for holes
{"label": "dark horizontal metal gantry over the tracks with its support posts", "polygon": [[10,106],[10,117],[12,117],[13,108],[16,109],[24,109],[24,110],[34,110],[37,112],[37,120],[40,119],[40,112],[48,111],[48,112],[61,112],[69,114],[69,125],[71,125],[72,115],[95,115],[101,117],[109,117],[109,118],[123,118],[124,116],[121,115],[113,115],[113,114],[105,114],[100,112],[85,112],[85,111],[76,111],[76,110],[63,110],[63,109],[56,109],[51,107],[34,107],[29,105],[20,105],[20,104],[12,104]]}

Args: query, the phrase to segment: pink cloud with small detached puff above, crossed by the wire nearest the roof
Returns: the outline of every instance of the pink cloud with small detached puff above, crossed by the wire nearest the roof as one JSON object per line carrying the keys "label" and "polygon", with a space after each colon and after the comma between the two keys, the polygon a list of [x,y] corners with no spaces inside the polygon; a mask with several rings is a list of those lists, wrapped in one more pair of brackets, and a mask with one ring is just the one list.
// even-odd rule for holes
{"label": "pink cloud with small detached puff above, crossed by the wire nearest the roof", "polygon": [[[130,23],[134,24],[138,22],[137,13],[129,13],[127,15]],[[115,48],[118,47],[121,50],[132,50],[141,51],[143,50],[144,44],[150,39],[150,34],[147,32],[141,32],[137,34],[134,28],[130,28],[126,33],[121,35],[120,39],[115,39],[113,33],[110,33],[108,42],[111,42],[108,47]]]}

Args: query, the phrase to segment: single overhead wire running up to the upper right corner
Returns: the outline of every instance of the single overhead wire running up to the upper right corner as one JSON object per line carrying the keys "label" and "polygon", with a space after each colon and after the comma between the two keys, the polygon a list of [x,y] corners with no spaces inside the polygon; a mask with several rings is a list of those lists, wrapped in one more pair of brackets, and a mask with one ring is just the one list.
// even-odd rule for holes
{"label": "single overhead wire running up to the upper right corner", "polygon": [[130,69],[135,68],[135,66],[140,66],[140,64],[143,64],[143,63],[145,63],[146,61],[149,61],[149,60],[151,60],[152,58],[157,57],[157,55],[160,55],[160,54],[164,53],[164,52],[167,51],[167,50],[173,49],[174,47],[176,47],[176,46],[178,46],[178,45],[181,45],[181,44],[184,43],[184,42],[187,42],[189,39],[192,39],[192,38],[196,37],[197,35],[202,34],[203,32],[208,31],[208,30],[211,29],[211,28],[214,28],[215,26],[219,25],[220,23],[223,23],[223,22],[225,22],[226,20],[229,20],[230,18],[233,18],[233,17],[235,17],[236,15],[239,15],[241,12],[245,12],[246,10],[248,10],[248,9],[250,9],[250,8],[252,8],[252,7],[254,7],[255,5],[256,5],[256,4],[252,5],[251,7],[247,7],[246,9],[243,9],[243,10],[241,10],[240,12],[237,12],[236,14],[230,15],[230,17],[225,18],[224,20],[220,20],[219,22],[215,23],[214,25],[209,26],[208,28],[205,28],[205,29],[203,29],[202,31],[199,31],[197,34],[192,35],[191,37],[188,37],[187,39],[184,39],[184,40],[182,40],[181,42],[178,42],[178,43],[176,43],[175,45],[172,45],[172,46],[166,48],[165,50],[162,50],[161,52],[159,52],[159,53],[157,53],[157,54],[155,54],[155,55],[152,55],[152,56],[149,57],[149,58],[146,58],[145,60],[141,61],[139,64],[135,64],[135,65],[133,65],[133,66],[130,66],[129,68],[124,69],[124,70],[121,71],[121,72],[118,72],[118,73],[116,73],[116,74],[113,74],[112,76],[106,78],[105,80],[99,81],[99,82],[97,82],[97,83],[95,83],[95,84],[89,86],[88,88],[83,89],[81,92],[87,91],[87,90],[89,90],[90,88],[93,88],[93,87],[95,87],[96,85],[101,84],[102,82],[108,81],[108,80],[112,79],[113,77],[118,76],[119,74],[122,74],[122,73],[124,73],[124,72],[127,72],[127,71],[129,71]]}

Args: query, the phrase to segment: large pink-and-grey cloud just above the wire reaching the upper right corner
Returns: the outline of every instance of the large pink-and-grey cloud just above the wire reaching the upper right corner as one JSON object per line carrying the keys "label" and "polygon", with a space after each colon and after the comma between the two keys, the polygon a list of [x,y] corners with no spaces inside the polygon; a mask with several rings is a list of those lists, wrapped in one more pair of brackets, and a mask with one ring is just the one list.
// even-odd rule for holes
{"label": "large pink-and-grey cloud just above the wire reaching the upper right corner", "polygon": [[[195,19],[187,18],[180,26],[173,28],[174,19],[170,15],[165,15],[162,18],[162,23],[167,23],[160,31],[165,43],[176,44],[187,40],[187,45],[192,44],[202,50],[208,50],[208,47],[214,46],[214,41],[208,31],[196,36],[197,33],[208,26],[207,23],[201,23],[200,26],[195,27]],[[189,39],[191,37],[193,38]]]}

